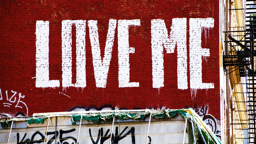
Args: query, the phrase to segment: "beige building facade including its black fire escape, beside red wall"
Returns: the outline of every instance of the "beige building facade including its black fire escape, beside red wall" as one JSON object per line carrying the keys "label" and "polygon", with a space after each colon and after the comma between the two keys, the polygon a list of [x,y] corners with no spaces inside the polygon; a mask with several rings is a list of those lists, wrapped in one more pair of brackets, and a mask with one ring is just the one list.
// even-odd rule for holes
{"label": "beige building facade including its black fire escape, beside red wall", "polygon": [[[223,3],[223,97],[221,117],[225,143],[255,143],[255,2]],[[226,10],[225,10],[226,9]],[[222,44],[222,43],[221,43]],[[221,83],[222,83],[221,82]]]}

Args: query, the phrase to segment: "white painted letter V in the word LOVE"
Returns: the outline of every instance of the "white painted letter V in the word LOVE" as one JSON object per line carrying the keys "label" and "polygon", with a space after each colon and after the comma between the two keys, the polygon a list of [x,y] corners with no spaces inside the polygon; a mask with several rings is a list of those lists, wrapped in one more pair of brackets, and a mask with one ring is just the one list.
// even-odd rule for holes
{"label": "white painted letter V in the word LOVE", "polygon": [[109,28],[106,38],[106,45],[103,59],[100,56],[100,43],[97,20],[89,20],[89,36],[92,47],[92,62],[94,69],[94,77],[97,87],[106,87],[110,60],[112,57],[112,47],[114,45],[116,19],[109,19]]}

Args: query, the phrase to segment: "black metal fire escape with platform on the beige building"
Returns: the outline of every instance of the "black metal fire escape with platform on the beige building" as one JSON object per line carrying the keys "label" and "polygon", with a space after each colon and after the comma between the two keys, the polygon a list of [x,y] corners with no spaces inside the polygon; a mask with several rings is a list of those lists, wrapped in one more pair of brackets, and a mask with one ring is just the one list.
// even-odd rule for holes
{"label": "black metal fire escape with platform on the beige building", "polygon": [[244,101],[236,103],[245,104],[247,119],[240,119],[243,123],[236,122],[233,125],[246,125],[247,137],[242,139],[247,139],[248,143],[256,143],[256,4],[252,0],[246,1],[245,22],[245,27],[229,27],[225,32],[223,68],[226,75],[232,73],[245,79],[243,83],[236,83],[244,87],[243,91],[234,93],[242,93],[241,96],[244,96]]}

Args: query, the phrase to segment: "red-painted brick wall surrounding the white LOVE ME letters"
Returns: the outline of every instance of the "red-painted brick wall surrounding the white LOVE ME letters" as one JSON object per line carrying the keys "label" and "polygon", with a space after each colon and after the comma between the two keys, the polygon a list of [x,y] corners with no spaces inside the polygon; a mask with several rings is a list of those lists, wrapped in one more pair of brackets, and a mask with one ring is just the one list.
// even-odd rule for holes
{"label": "red-painted brick wall surrounding the white LOVE ME letters", "polygon": [[[207,105],[208,114],[220,118],[218,16],[219,2],[209,0],[1,1],[0,113],[16,115],[22,112],[25,115],[27,113],[32,115],[38,112],[68,111],[76,106],[100,110],[106,105],[114,109],[180,109]],[[159,89],[152,87],[151,20],[164,20],[169,34],[173,18],[186,18],[187,23],[188,88],[184,90],[178,89],[177,86],[177,47],[174,53],[166,53],[164,50],[164,87]],[[214,88],[197,89],[196,97],[191,97],[190,89],[190,18],[214,19],[214,27],[202,29],[201,33],[201,46],[209,49],[210,52],[206,60],[202,58],[202,83],[214,83]],[[135,53],[131,53],[129,58],[130,82],[138,82],[139,87],[119,87],[117,26],[106,87],[96,87],[87,22],[98,21],[99,43],[103,58],[109,19],[117,21],[140,19],[140,26],[129,28],[129,46],[135,48]],[[59,80],[59,87],[36,87],[35,33],[38,20],[49,21],[49,80]],[[86,20],[86,87],[84,88],[62,87],[62,20]],[[74,28],[72,32],[74,45],[76,40]],[[72,61],[76,60],[75,52],[73,48]],[[72,82],[75,83],[75,62],[72,62],[72,73]]]}

